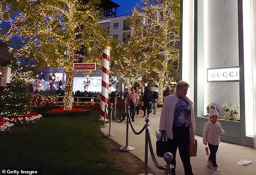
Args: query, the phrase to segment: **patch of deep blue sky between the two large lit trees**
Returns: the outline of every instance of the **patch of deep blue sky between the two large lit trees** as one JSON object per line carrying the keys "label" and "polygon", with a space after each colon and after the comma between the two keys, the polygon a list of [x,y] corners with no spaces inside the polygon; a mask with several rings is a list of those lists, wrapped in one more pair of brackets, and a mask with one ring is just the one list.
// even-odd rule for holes
{"label": "patch of deep blue sky between the two large lit trees", "polygon": [[126,13],[132,14],[132,8],[136,5],[140,0],[112,0],[116,4],[120,5],[116,9],[117,16],[124,16]]}

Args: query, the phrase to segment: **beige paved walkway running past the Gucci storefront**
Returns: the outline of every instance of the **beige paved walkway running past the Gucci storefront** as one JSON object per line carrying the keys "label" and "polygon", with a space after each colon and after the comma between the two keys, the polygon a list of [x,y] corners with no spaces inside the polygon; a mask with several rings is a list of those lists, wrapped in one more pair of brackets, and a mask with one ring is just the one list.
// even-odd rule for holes
{"label": "beige paved walkway running past the Gucci storefront", "polygon": [[[154,149],[154,153],[156,156],[157,163],[159,165],[165,165],[166,162],[164,158],[160,158],[156,155],[155,142],[156,137],[154,135],[154,129],[158,130],[159,127],[159,118],[162,108],[157,109],[156,115],[150,113],[149,115],[149,133],[152,141],[152,146]],[[143,113],[140,110],[139,117],[135,117],[135,122],[132,122],[132,126],[139,132],[144,125],[146,124],[145,118],[142,118]],[[109,124],[106,124],[109,126]],[[225,130],[225,128],[223,128]],[[109,133],[109,127],[101,128],[101,131],[104,134]],[[134,150],[130,152],[141,159],[143,162],[145,161],[145,131],[140,135],[135,135],[132,132],[131,127],[129,126],[128,132],[128,146],[134,147]],[[117,123],[112,121],[111,123],[111,134],[115,134],[115,136],[111,136],[110,138],[120,144],[121,146],[126,146],[126,121],[122,123]],[[206,162],[208,160],[208,156],[206,156],[205,146],[202,141],[202,137],[195,136],[197,139],[197,156],[191,157],[191,165],[193,169],[194,175],[211,175],[212,169],[210,169]],[[150,152],[148,152],[148,167],[155,173],[155,175],[165,175],[164,170],[159,170],[155,167]],[[252,161],[247,165],[239,165],[240,159],[246,161]],[[176,155],[176,175],[184,175],[183,165],[180,160],[180,156],[177,153]],[[217,152],[217,164],[218,167],[223,171],[222,175],[256,175],[256,149],[248,148],[245,146],[239,146],[235,144],[229,144],[225,142],[220,142],[218,152]],[[128,167],[129,168],[129,167]],[[138,172],[138,174],[143,172]]]}

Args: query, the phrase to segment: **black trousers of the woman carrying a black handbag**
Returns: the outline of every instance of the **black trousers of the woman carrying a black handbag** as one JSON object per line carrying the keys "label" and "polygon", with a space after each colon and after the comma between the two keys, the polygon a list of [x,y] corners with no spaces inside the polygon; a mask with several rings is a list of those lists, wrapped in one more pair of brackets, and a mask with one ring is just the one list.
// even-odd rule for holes
{"label": "black trousers of the woman carrying a black handbag", "polygon": [[173,159],[170,162],[170,164],[174,166],[174,168],[172,169],[172,174],[175,174],[176,152],[178,148],[180,158],[183,163],[185,175],[193,175],[189,156],[189,127],[183,128],[173,126],[172,135],[173,139],[167,138],[168,148],[170,149],[169,151],[170,153],[172,153],[173,156]]}

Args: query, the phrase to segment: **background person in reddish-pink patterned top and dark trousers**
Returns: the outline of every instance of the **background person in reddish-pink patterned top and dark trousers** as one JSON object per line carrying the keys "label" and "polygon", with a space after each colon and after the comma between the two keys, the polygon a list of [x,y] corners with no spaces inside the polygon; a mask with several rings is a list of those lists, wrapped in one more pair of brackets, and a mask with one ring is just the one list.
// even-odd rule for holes
{"label": "background person in reddish-pink patterned top and dark trousers", "polygon": [[127,95],[127,103],[128,106],[130,106],[130,115],[132,118],[132,121],[134,121],[134,115],[135,115],[135,107],[137,107],[138,104],[138,94],[135,93],[134,87],[131,88],[131,93]]}

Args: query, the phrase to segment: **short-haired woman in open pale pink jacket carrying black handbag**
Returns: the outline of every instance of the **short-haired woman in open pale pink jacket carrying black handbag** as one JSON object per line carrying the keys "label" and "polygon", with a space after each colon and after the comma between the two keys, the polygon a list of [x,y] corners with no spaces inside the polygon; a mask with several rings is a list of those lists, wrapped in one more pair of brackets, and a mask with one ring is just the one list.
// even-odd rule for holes
{"label": "short-haired woman in open pale pink jacket carrying black handbag", "polygon": [[183,80],[177,83],[176,93],[166,97],[160,117],[159,131],[165,132],[168,151],[173,156],[171,175],[175,175],[177,148],[185,175],[193,175],[189,144],[195,144],[195,117],[193,102],[186,96],[188,88],[189,84]]}

